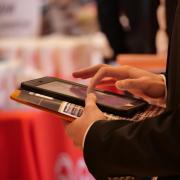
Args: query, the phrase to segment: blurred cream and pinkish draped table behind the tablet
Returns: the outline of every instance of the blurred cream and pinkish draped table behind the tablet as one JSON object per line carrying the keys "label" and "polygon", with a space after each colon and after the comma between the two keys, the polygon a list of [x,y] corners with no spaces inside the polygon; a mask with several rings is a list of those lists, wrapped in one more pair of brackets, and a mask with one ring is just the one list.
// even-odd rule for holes
{"label": "blurred cream and pinkish draped table behind the tablet", "polygon": [[73,71],[102,63],[108,51],[101,33],[80,37],[1,40],[0,108],[17,108],[17,103],[11,102],[9,95],[21,81],[42,76],[71,79]]}

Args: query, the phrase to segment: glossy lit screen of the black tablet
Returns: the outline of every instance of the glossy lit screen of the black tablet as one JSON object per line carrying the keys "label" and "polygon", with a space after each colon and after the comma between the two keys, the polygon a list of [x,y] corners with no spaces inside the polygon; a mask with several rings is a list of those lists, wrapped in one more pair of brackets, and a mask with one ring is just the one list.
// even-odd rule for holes
{"label": "glossy lit screen of the black tablet", "polygon": [[[75,98],[79,98],[84,100],[86,97],[86,87],[76,86],[64,82],[53,81],[50,83],[42,84],[37,87],[42,89],[54,91],[57,93],[65,94],[68,96],[72,96]],[[103,92],[95,91],[94,92],[97,96],[97,102],[99,104],[104,104],[106,106],[112,106],[114,108],[120,108],[122,106],[134,106],[133,99],[123,98],[116,95],[106,94]]]}

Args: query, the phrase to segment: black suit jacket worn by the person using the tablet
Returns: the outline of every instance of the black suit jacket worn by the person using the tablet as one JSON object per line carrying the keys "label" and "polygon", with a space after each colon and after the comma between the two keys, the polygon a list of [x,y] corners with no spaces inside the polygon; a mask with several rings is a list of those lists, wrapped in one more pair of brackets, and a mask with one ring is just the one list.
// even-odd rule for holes
{"label": "black suit jacket worn by the person using the tablet", "polygon": [[88,131],[84,158],[96,179],[180,175],[180,2],[167,67],[166,112],[142,122],[98,121]]}

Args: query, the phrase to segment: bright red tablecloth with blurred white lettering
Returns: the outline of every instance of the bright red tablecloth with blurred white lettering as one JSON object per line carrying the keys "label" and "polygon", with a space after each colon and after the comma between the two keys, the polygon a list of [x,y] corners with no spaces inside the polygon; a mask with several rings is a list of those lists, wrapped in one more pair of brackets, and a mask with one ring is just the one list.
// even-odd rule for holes
{"label": "bright red tablecloth with blurred white lettering", "polygon": [[0,112],[1,180],[92,180],[62,121],[42,111]]}

